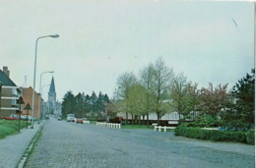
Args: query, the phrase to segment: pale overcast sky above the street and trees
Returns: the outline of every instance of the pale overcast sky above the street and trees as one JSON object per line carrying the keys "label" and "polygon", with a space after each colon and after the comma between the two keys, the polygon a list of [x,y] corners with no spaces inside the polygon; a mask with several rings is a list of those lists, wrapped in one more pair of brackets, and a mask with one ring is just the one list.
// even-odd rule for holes
{"label": "pale overcast sky above the street and trees", "polygon": [[[72,90],[107,93],[118,76],[158,58],[199,86],[231,88],[254,67],[254,4],[248,1],[1,0],[0,69],[35,89],[52,76],[57,99]],[[27,80],[26,80],[27,79]]]}

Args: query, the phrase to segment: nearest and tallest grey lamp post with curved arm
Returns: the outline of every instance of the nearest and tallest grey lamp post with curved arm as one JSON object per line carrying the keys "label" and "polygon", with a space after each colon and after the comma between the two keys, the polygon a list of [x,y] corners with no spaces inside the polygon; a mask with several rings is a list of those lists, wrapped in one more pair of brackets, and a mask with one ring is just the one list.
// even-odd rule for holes
{"label": "nearest and tallest grey lamp post with curved arm", "polygon": [[46,38],[46,37],[52,37],[52,38],[58,38],[58,34],[52,34],[52,35],[45,35],[45,36],[39,36],[35,41],[35,54],[34,54],[34,67],[33,67],[33,91],[32,91],[32,129],[33,129],[33,112],[34,112],[34,92],[35,92],[35,71],[36,71],[36,52],[37,52],[37,43],[40,38]]}

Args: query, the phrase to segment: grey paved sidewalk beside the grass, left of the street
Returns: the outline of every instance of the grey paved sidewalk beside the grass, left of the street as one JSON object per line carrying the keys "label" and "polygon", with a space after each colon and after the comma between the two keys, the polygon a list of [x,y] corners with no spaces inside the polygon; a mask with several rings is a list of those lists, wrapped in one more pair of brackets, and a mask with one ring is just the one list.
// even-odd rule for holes
{"label": "grey paved sidewalk beside the grass, left of the street", "polygon": [[43,122],[34,122],[33,129],[22,129],[18,135],[8,136],[0,140],[0,167],[15,168],[21,160],[26,148]]}

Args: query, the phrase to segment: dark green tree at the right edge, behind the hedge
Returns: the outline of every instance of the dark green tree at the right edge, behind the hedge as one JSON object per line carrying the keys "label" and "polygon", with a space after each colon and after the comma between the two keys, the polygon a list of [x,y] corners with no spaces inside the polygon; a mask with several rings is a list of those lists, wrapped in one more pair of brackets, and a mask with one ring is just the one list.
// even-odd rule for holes
{"label": "dark green tree at the right edge, behind the hedge", "polygon": [[255,126],[255,69],[246,74],[231,90],[230,99],[222,116],[225,124],[232,130],[254,128]]}

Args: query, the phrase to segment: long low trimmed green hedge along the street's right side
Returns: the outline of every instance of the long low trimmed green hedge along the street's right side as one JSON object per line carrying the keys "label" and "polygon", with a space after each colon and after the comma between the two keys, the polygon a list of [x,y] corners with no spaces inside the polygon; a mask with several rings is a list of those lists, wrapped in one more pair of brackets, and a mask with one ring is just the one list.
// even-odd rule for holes
{"label": "long low trimmed green hedge along the street's right side", "polygon": [[183,136],[199,140],[246,142],[245,132],[224,132],[217,130],[202,130],[201,128],[176,127],[175,136]]}

